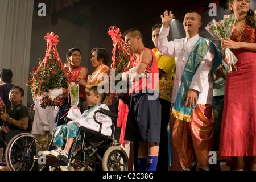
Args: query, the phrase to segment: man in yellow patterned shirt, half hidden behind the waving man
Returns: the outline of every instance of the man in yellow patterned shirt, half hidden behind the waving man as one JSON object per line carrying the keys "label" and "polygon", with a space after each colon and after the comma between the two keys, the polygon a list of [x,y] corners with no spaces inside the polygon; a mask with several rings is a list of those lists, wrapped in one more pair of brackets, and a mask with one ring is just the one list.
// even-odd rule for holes
{"label": "man in yellow patterned shirt, half hidden behind the waving man", "polygon": [[[157,23],[152,27],[152,42],[156,46],[156,40],[158,40],[161,23]],[[167,35],[166,39],[169,38]],[[169,152],[168,152],[168,125],[170,122],[170,109],[172,99],[172,89],[174,88],[174,68],[175,58],[164,56],[155,47],[152,49],[155,53],[156,60],[158,60],[158,71],[159,71],[159,101],[161,103],[161,134],[159,143],[159,156],[158,156],[158,167],[157,171],[168,171],[169,169]],[[172,155],[172,152],[171,152]]]}

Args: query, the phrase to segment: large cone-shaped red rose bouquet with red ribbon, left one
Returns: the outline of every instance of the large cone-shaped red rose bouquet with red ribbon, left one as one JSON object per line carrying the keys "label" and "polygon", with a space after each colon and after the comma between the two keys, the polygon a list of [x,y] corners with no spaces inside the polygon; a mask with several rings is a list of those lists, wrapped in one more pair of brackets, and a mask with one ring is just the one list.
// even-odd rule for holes
{"label": "large cone-shaped red rose bouquet with red ribbon, left one", "polygon": [[47,92],[55,88],[68,89],[69,86],[68,68],[64,68],[57,52],[56,45],[59,42],[57,38],[58,36],[54,35],[53,32],[44,37],[47,40],[46,56],[39,61],[38,67],[34,67],[34,72],[30,73],[32,78],[27,82],[33,100],[38,96],[42,97],[40,100],[42,107],[45,107],[45,105],[60,106],[63,98],[57,97],[54,101],[51,101]]}

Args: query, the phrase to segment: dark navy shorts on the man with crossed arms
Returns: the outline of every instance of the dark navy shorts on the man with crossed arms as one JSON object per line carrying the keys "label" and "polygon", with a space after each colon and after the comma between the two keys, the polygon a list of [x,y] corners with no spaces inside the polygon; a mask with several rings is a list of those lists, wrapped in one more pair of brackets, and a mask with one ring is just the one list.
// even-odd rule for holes
{"label": "dark navy shorts on the man with crossed arms", "polygon": [[159,99],[149,100],[148,93],[133,93],[129,98],[125,140],[160,142],[161,104]]}

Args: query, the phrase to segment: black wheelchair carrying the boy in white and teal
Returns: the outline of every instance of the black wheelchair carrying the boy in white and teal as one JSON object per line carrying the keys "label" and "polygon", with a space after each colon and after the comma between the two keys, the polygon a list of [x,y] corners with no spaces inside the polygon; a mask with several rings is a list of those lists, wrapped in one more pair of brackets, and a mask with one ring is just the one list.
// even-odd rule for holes
{"label": "black wheelchair carrying the boy in white and teal", "polygon": [[[49,166],[51,171],[59,171],[60,166],[69,166],[69,171],[128,171],[129,158],[121,148],[121,143],[115,139],[115,127],[118,118],[119,100],[125,97],[119,96],[115,102],[114,112],[99,108],[94,113],[94,121],[100,125],[99,131],[79,127],[79,132],[69,151],[69,157],[63,155],[55,157],[36,156],[34,160],[40,163],[44,161],[44,166]],[[96,114],[102,113],[112,118],[112,135],[101,134],[102,123],[96,119]],[[79,140],[81,137],[81,140]],[[54,149],[53,142],[48,151]]]}

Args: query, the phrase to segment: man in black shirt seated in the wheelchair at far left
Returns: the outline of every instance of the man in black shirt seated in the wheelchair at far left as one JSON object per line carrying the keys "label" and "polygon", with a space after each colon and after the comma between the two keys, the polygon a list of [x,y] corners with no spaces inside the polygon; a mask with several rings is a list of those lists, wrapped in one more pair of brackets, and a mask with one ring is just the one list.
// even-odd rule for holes
{"label": "man in black shirt seated in the wheelchair at far left", "polygon": [[10,90],[9,100],[11,101],[11,107],[6,112],[1,112],[0,117],[2,125],[6,127],[5,130],[0,131],[1,140],[9,142],[15,135],[28,132],[29,114],[27,107],[21,103],[23,97],[23,88],[14,86]]}

